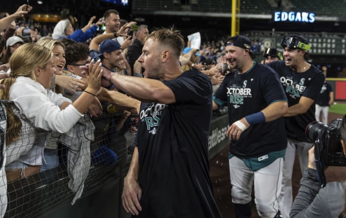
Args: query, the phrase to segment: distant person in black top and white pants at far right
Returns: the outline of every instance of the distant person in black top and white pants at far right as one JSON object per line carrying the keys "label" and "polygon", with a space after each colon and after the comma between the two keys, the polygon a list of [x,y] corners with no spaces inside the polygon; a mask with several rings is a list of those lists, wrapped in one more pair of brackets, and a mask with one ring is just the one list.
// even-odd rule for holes
{"label": "distant person in black top and white pants at far right", "polygon": [[[327,77],[327,67],[323,66],[322,71],[325,77]],[[334,92],[332,86],[324,80],[320,94],[316,99],[315,118],[320,121],[320,115],[322,115],[322,122],[328,124],[328,110],[334,103]]]}

